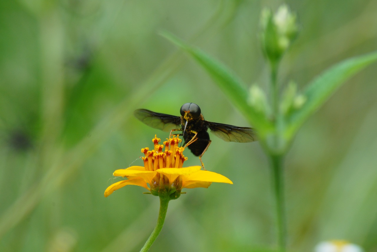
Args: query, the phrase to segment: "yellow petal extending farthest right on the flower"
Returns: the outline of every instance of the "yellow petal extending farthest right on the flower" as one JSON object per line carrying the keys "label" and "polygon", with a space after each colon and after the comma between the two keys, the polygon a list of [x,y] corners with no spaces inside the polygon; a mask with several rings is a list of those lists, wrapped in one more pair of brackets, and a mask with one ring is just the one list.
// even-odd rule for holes
{"label": "yellow petal extending farthest right on the flower", "polygon": [[[227,177],[214,173],[212,171],[197,171],[195,173],[191,173],[187,176],[182,176],[182,188],[187,187],[187,188],[194,188],[195,182],[219,182],[219,183],[228,183],[228,184],[233,184],[230,179]],[[200,185],[203,185],[201,183],[198,184],[198,187],[203,187]],[[189,187],[188,187],[189,186]],[[209,185],[208,185],[209,186]]]}

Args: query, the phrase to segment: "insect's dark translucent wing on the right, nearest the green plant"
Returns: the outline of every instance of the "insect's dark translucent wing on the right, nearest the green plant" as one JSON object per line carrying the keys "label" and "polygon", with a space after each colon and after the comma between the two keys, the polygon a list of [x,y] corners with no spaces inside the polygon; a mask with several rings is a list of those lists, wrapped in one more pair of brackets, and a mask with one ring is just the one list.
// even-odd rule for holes
{"label": "insect's dark translucent wing on the right, nearest the green plant", "polygon": [[248,143],[257,141],[256,131],[253,128],[208,121],[207,124],[213,134],[226,142]]}

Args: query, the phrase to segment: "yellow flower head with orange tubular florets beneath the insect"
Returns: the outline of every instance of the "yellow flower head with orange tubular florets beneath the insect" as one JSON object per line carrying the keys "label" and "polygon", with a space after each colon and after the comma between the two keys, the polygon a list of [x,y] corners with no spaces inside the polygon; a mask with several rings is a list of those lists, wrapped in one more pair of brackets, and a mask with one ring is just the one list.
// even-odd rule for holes
{"label": "yellow flower head with orange tubular florets beneath the insect", "polygon": [[[113,175],[126,177],[127,180],[113,183],[105,191],[105,197],[126,185],[138,185],[146,188],[153,195],[168,194],[170,199],[177,199],[182,188],[208,188],[212,182],[233,184],[227,177],[211,171],[201,170],[201,166],[182,167],[187,157],[183,155],[184,148],[178,147],[181,141],[178,137],[158,143],[161,139],[152,139],[154,150],[141,149],[144,153],[144,166],[131,166],[116,170]],[[149,184],[149,186],[148,186]]]}

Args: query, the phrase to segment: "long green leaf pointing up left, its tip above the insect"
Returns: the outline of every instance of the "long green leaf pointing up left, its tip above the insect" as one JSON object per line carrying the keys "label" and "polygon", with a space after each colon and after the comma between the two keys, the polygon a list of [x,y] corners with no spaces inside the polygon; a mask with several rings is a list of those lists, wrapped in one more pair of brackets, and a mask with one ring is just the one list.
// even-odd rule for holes
{"label": "long green leaf pointing up left, its tip above the insect", "polygon": [[219,86],[222,92],[228,96],[233,104],[241,111],[242,114],[257,128],[259,135],[264,135],[267,129],[271,129],[272,125],[267,120],[265,115],[261,115],[255,111],[247,103],[248,90],[242,81],[222,63],[214,58],[211,58],[202,50],[184,43],[179,38],[169,33],[162,33],[162,36],[172,41],[185,52],[189,53],[207,73],[213,78],[215,83]]}

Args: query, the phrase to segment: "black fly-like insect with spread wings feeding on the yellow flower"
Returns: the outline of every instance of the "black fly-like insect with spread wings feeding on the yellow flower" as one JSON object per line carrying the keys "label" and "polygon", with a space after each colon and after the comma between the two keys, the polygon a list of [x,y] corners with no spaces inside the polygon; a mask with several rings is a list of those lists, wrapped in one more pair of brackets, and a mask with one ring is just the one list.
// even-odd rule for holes
{"label": "black fly-like insect with spread wings feeding on the yellow flower", "polygon": [[207,132],[208,128],[216,136],[227,142],[248,143],[256,141],[256,132],[253,128],[205,121],[199,106],[192,102],[182,105],[181,116],[156,113],[146,109],[135,110],[134,115],[152,128],[170,131],[170,134],[172,134],[172,131],[182,131],[185,147],[188,147],[195,156],[199,156],[203,168],[202,156],[211,144]]}

